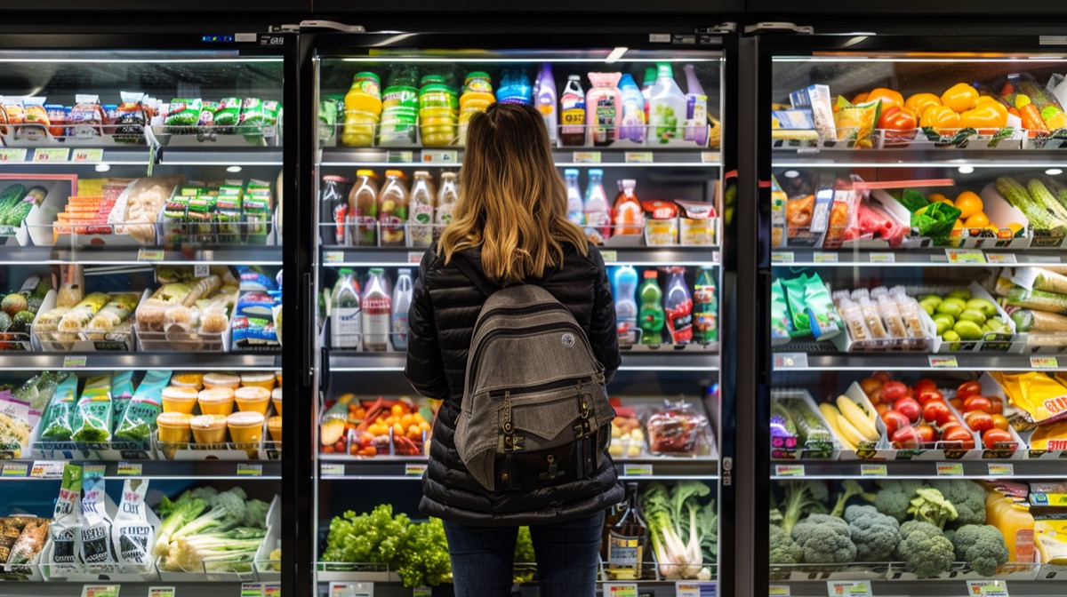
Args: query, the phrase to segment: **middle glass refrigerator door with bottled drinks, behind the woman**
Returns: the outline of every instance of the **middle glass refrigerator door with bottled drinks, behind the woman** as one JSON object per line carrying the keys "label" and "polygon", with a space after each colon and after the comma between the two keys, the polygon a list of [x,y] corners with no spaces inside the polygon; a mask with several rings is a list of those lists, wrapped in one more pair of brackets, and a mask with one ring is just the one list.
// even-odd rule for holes
{"label": "middle glass refrigerator door with bottled drinks, behind the woman", "polygon": [[[628,313],[619,321],[622,367],[608,390],[618,412],[611,454],[636,497],[632,503],[643,503],[650,491],[673,494],[685,490],[685,483],[698,484],[689,499],[699,512],[695,538],[706,534],[706,540],[694,544],[687,561],[660,558],[664,552],[647,536],[640,566],[631,561],[627,570],[619,553],[612,563],[605,542],[600,580],[605,586],[636,584],[642,594],[646,587],[673,594],[676,579],[714,582],[722,53],[614,46],[433,50],[457,42],[403,39],[431,48],[414,50],[392,48],[381,37],[380,47],[369,50],[341,42],[322,46],[315,60],[315,271],[322,346],[317,591],[324,594],[333,582],[372,581],[376,594],[399,595],[401,585],[448,582],[442,576],[449,570],[443,531],[432,534],[417,558],[403,544],[389,555],[384,546],[346,549],[344,542],[383,507],[392,509],[385,515],[426,523],[417,510],[419,479],[439,404],[417,396],[403,376],[411,285],[427,247],[462,200],[468,119],[505,99],[537,102],[545,115],[572,217],[600,245],[618,310]],[[524,45],[522,36],[483,43],[539,45]],[[646,124],[646,103],[652,124]],[[625,507],[609,512],[609,525]],[[637,516],[651,514],[644,509]],[[687,533],[684,518],[670,525]],[[664,531],[656,525],[647,530]],[[527,543],[515,555],[516,583],[536,583],[531,558]]]}

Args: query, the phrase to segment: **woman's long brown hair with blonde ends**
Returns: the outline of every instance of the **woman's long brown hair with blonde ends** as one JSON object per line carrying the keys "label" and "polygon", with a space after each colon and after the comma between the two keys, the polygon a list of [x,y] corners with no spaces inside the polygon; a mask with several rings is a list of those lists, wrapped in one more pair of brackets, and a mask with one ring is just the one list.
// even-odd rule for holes
{"label": "woman's long brown hair with blonde ends", "polygon": [[567,188],[552,161],[541,113],[529,106],[493,103],[467,129],[460,197],[441,233],[447,263],[481,246],[494,281],[539,278],[563,261],[561,242],[588,253],[585,232],[567,219]]}

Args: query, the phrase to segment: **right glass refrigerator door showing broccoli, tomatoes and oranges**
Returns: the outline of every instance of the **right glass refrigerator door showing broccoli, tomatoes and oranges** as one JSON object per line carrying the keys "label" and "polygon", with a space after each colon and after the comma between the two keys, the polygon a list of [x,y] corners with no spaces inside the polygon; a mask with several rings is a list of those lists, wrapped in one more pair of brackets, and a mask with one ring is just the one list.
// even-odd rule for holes
{"label": "right glass refrigerator door showing broccoli, tomatoes and oranges", "polygon": [[766,49],[776,591],[1063,592],[1067,62],[1032,46]]}

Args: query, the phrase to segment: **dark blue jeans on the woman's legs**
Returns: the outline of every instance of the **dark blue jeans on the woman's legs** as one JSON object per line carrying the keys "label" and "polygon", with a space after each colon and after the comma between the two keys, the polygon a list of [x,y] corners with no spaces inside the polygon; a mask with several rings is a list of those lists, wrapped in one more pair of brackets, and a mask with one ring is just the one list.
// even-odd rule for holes
{"label": "dark blue jeans on the woman's legs", "polygon": [[[604,513],[530,526],[541,597],[593,597]],[[517,527],[445,520],[456,597],[510,597]]]}

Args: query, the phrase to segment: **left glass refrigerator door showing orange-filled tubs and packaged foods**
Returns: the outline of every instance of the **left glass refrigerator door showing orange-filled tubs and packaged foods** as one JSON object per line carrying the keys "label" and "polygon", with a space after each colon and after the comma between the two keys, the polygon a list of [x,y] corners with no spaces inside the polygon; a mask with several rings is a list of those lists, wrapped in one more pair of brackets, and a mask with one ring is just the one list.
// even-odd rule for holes
{"label": "left glass refrigerator door showing orange-filled tubs and packaged foods", "polygon": [[0,49],[0,593],[276,594],[290,48],[21,42]]}

